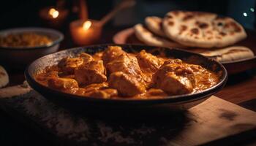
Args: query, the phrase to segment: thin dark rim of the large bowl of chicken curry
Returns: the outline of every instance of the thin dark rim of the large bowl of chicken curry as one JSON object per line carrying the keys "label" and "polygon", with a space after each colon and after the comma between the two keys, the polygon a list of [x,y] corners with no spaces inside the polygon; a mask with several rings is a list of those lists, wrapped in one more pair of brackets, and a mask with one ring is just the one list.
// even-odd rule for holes
{"label": "thin dark rim of the large bowl of chicken curry", "polygon": [[[83,46],[83,47],[73,47],[67,50],[61,50],[58,51],[56,53],[60,53],[60,52],[65,52],[65,51],[71,51],[72,50],[78,50],[81,48],[86,48],[86,47],[107,47],[109,45],[117,45],[117,44],[102,44],[102,45],[89,45],[89,46]],[[137,47],[156,47],[156,46],[151,46],[151,45],[130,45],[130,44],[122,44],[122,45],[117,45],[117,46],[137,46]],[[170,47],[161,47],[161,48],[165,48],[165,49],[171,49],[171,50],[178,50],[181,52],[186,52],[186,53],[190,53],[193,55],[200,55],[198,53],[193,53],[191,51],[187,51],[187,50],[181,50],[178,48],[170,48]],[[51,53],[49,55],[53,55],[54,53]],[[203,55],[200,55],[203,58],[206,58]],[[41,58],[38,58],[36,61],[39,61],[42,58],[47,58],[48,55],[42,56]],[[214,61],[211,58],[206,58],[209,61]],[[224,87],[225,83],[227,82],[227,70],[225,69],[225,67],[220,64],[218,61],[214,61],[215,64],[218,64],[221,69],[222,69],[222,78],[220,79],[220,81],[212,86],[211,88],[207,88],[206,90],[197,92],[197,93],[187,93],[187,94],[182,94],[182,95],[176,95],[176,96],[166,96],[163,99],[97,99],[97,98],[93,98],[93,97],[89,97],[89,96],[78,96],[76,94],[72,94],[72,93],[64,93],[61,91],[57,91],[55,89],[52,88],[48,88],[45,85],[41,85],[39,82],[37,82],[36,80],[34,80],[34,76],[33,74],[31,74],[31,66],[36,62],[33,61],[31,64],[29,64],[29,66],[26,67],[26,70],[24,72],[25,77],[27,82],[29,82],[29,85],[31,85],[31,88],[36,88],[36,89],[44,89],[44,90],[48,90],[50,91],[50,93],[55,93],[55,94],[59,94],[62,98],[67,98],[67,99],[74,99],[74,100],[83,100],[83,101],[94,101],[94,102],[108,102],[108,103],[127,103],[127,104],[155,104],[155,103],[176,103],[176,102],[184,102],[184,101],[192,101],[192,100],[197,100],[197,99],[202,99],[205,98],[208,95],[212,95],[214,93],[216,93],[217,91],[219,91],[221,88]]]}

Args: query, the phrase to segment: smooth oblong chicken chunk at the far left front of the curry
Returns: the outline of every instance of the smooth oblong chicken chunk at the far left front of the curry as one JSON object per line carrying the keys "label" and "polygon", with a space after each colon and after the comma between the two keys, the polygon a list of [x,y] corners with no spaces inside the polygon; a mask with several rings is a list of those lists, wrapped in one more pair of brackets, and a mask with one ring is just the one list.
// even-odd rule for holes
{"label": "smooth oblong chicken chunk at the far left front of the curry", "polygon": [[74,93],[78,90],[78,82],[74,79],[54,77],[48,80],[48,86],[50,88]]}

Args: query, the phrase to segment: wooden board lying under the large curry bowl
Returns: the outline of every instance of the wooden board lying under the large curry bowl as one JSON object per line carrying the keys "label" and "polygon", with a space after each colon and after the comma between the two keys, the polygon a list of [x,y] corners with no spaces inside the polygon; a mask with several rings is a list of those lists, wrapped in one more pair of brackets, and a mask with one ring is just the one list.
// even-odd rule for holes
{"label": "wooden board lying under the large curry bowl", "polygon": [[13,86],[0,90],[0,107],[58,145],[223,145],[256,135],[256,113],[217,96],[176,115],[111,120],[75,115]]}

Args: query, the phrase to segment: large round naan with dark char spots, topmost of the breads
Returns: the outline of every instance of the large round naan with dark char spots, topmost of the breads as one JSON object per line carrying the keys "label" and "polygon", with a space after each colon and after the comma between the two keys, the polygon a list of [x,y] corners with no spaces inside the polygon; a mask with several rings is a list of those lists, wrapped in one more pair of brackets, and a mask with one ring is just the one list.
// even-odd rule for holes
{"label": "large round naan with dark char spots, topmost of the breads", "polygon": [[246,38],[236,20],[209,12],[171,11],[162,23],[167,37],[189,47],[226,47]]}

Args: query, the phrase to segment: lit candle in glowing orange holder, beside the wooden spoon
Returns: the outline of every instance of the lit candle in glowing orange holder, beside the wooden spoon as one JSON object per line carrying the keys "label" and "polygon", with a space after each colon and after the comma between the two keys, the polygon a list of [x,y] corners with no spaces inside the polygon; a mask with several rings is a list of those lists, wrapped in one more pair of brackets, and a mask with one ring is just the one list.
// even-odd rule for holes
{"label": "lit candle in glowing orange holder, beside the wooden spoon", "polygon": [[102,26],[96,20],[75,20],[70,23],[70,32],[75,45],[91,45],[99,40]]}

